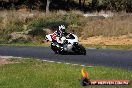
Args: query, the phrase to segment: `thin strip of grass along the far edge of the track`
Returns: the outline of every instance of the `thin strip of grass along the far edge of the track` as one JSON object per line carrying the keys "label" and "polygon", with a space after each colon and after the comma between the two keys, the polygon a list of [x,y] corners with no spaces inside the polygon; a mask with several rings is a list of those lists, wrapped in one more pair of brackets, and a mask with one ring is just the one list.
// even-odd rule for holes
{"label": "thin strip of grass along the far edge of the track", "polygon": [[[0,46],[50,46],[50,43],[11,43],[11,44],[0,44]],[[94,45],[94,44],[83,44],[86,48],[96,49],[116,49],[116,50],[132,50],[132,45]]]}

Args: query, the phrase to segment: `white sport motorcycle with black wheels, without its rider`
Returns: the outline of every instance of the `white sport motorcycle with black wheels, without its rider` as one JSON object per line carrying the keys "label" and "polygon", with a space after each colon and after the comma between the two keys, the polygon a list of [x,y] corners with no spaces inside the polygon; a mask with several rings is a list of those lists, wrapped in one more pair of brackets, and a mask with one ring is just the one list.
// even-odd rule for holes
{"label": "white sport motorcycle with black wheels, without its rider", "polygon": [[[57,42],[52,41],[52,34],[46,35],[46,41],[50,41],[51,43],[51,49],[56,54],[68,54],[68,53],[75,53],[79,55],[86,55],[85,48],[79,44],[78,37],[75,34],[72,33],[66,33],[65,34],[65,40],[63,44],[59,44]],[[63,38],[63,37],[62,37]]]}

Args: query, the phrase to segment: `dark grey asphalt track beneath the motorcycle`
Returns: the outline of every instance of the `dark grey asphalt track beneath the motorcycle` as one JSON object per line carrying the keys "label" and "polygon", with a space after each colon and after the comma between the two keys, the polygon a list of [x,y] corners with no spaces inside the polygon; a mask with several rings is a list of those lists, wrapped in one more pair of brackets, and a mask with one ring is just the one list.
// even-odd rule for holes
{"label": "dark grey asphalt track beneath the motorcycle", "polygon": [[86,49],[87,55],[56,55],[48,47],[40,46],[0,46],[0,55],[33,57],[44,60],[119,67],[132,70],[132,50]]}

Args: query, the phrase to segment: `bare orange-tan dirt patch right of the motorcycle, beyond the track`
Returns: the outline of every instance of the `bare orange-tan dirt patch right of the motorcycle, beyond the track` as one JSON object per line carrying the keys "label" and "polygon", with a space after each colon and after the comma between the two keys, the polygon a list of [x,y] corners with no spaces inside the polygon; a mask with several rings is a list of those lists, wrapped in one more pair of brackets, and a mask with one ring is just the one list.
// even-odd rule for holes
{"label": "bare orange-tan dirt patch right of the motorcycle, beyond the track", "polygon": [[132,45],[131,36],[120,37],[89,37],[86,40],[80,39],[82,44],[94,44],[94,45]]}

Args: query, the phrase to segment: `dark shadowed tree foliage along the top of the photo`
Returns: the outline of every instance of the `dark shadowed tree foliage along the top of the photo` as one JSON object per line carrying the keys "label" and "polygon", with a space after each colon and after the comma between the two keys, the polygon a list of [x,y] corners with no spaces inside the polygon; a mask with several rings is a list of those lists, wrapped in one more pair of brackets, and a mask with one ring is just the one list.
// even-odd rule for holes
{"label": "dark shadowed tree foliage along the top of the photo", "polygon": [[[49,10],[112,10],[132,12],[132,0],[49,0]],[[46,10],[47,0],[18,0],[17,2],[1,2],[0,8],[19,9],[22,6],[26,8]]]}

